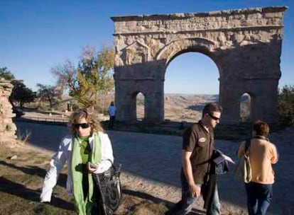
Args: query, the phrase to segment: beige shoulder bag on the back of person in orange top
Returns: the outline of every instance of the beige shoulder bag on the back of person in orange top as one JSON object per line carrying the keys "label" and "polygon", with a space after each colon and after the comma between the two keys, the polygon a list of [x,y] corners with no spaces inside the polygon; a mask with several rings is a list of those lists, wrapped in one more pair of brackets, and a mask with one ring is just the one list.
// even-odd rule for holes
{"label": "beige shoulder bag on the back of person in orange top", "polygon": [[234,178],[241,180],[241,182],[249,183],[251,182],[251,165],[249,158],[249,149],[250,149],[251,139],[246,139],[245,142],[245,153],[241,158],[239,158],[239,162],[234,169]]}

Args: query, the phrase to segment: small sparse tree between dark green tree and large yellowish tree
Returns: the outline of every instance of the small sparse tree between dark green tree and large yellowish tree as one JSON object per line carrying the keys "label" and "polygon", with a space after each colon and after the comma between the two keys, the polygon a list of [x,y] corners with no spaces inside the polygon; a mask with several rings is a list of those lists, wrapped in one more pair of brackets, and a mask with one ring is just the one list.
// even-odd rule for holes
{"label": "small sparse tree between dark green tree and large yellowish tree", "polygon": [[38,91],[37,97],[40,98],[40,102],[48,102],[50,108],[53,108],[53,104],[60,98],[62,91],[56,86],[44,85],[37,83]]}

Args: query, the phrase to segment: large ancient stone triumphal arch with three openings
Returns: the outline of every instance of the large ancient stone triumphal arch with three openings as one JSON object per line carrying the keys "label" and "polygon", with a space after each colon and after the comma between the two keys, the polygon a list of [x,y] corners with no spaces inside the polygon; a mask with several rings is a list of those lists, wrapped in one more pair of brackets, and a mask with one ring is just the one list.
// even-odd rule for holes
{"label": "large ancient stone triumphal arch with three openings", "polygon": [[136,120],[134,95],[141,92],[145,120],[162,122],[168,64],[184,52],[201,52],[219,69],[222,122],[239,122],[239,98],[244,93],[252,95],[252,120],[276,122],[286,9],[112,17],[116,119]]}

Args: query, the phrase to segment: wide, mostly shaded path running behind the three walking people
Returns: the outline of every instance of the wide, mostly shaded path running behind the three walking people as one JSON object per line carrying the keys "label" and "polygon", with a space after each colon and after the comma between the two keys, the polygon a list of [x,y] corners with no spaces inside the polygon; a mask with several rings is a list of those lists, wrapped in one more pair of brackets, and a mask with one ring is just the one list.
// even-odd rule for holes
{"label": "wide, mostly shaded path running behind the three walking people", "polygon": [[[53,124],[16,122],[18,132],[31,132],[29,142],[33,146],[52,153],[58,147],[67,127]],[[163,202],[180,199],[180,136],[141,134],[107,131],[114,149],[115,163],[123,165],[122,182],[130,190],[151,195]],[[294,214],[293,165],[294,128],[273,133],[271,141],[276,144],[280,161],[274,166],[276,183],[273,187],[273,203],[268,214]],[[217,140],[218,149],[236,161],[235,152],[239,142]],[[231,169],[234,166],[231,165]],[[241,182],[236,181],[232,171],[219,178],[219,193],[223,214],[246,214],[246,194]],[[202,201],[197,202],[202,210]],[[201,213],[200,213],[201,214]]]}

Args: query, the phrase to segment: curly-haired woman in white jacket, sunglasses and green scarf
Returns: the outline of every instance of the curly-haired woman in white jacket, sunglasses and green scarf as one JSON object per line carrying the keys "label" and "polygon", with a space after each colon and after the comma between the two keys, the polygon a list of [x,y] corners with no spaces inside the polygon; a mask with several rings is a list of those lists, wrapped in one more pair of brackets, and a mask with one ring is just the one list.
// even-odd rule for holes
{"label": "curly-haired woman in white jacket, sunglasses and green scarf", "polygon": [[67,193],[73,197],[79,215],[103,214],[99,190],[92,173],[103,173],[114,161],[109,136],[104,134],[97,117],[87,109],[70,116],[71,135],[65,136],[50,161],[45,175],[40,202],[50,202],[53,187],[63,165],[67,162]]}

